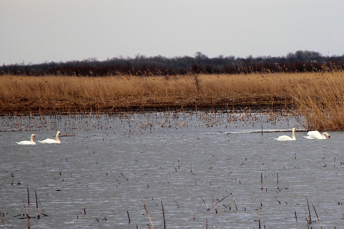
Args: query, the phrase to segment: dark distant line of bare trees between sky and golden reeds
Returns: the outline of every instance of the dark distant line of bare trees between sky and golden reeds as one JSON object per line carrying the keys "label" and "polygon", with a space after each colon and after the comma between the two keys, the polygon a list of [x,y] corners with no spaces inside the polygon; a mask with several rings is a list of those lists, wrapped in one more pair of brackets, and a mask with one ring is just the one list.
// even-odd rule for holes
{"label": "dark distant line of bare trees between sky and golden reeds", "polygon": [[201,52],[191,56],[114,57],[99,61],[97,58],[42,64],[11,64],[0,67],[0,75],[67,75],[108,76],[137,75],[165,76],[192,73],[250,73],[250,72],[310,72],[343,70],[344,55],[323,56],[316,51],[298,50],[286,56],[257,56],[235,58],[219,55],[209,58]]}

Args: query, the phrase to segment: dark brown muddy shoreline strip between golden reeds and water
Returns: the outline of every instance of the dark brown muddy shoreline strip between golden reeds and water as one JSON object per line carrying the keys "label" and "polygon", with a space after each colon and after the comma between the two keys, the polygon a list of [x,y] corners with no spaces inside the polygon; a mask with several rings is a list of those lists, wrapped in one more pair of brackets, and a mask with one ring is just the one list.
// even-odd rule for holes
{"label": "dark brown muddy shoreline strip between golden reeds and water", "polygon": [[174,101],[147,100],[113,100],[99,103],[90,100],[37,101],[29,99],[13,99],[0,101],[0,115],[50,115],[74,113],[116,113],[116,112],[164,112],[164,111],[209,111],[209,110],[252,110],[279,109],[292,105],[291,101],[279,98],[269,100],[250,100],[248,98],[216,99],[177,99]]}

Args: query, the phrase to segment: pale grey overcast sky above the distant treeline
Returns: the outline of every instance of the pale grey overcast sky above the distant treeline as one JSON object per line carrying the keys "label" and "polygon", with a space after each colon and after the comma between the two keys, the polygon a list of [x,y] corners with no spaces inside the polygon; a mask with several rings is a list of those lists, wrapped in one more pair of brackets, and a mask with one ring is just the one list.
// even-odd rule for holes
{"label": "pale grey overcast sky above the distant treeline", "polygon": [[343,0],[0,0],[0,63],[344,53]]}

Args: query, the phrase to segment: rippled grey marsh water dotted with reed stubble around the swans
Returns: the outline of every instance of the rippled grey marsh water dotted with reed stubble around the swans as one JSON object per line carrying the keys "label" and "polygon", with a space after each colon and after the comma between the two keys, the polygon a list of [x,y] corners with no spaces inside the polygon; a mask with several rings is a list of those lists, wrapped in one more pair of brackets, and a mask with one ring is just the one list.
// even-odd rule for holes
{"label": "rippled grey marsh water dotted with reed stubble around the swans", "polygon": [[[259,228],[257,209],[262,228],[297,228],[295,212],[300,228],[309,215],[320,228],[316,214],[323,228],[343,228],[344,133],[308,140],[301,131],[296,141],[276,141],[291,132],[245,132],[300,124],[292,117],[232,115],[3,117],[4,225],[27,228],[17,215],[25,214],[23,201],[28,211],[28,187],[30,215],[37,213],[34,191],[39,213],[48,215],[31,218],[30,228],[148,228],[143,202],[155,228],[164,228],[161,202],[166,228],[206,228],[206,222],[208,228]],[[60,137],[61,144],[37,142],[57,130],[75,136]],[[32,133],[37,145],[14,143]]]}

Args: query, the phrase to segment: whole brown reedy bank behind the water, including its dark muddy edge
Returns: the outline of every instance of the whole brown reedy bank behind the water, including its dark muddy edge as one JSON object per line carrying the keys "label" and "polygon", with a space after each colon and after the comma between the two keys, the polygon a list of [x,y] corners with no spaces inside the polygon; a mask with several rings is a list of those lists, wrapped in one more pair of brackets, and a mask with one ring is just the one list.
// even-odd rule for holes
{"label": "whole brown reedy bank behind the water, including its dark muddy edge", "polygon": [[1,76],[0,113],[286,106],[299,98],[303,89],[312,91],[315,85],[339,85],[344,83],[343,76],[343,72],[162,77]]}

